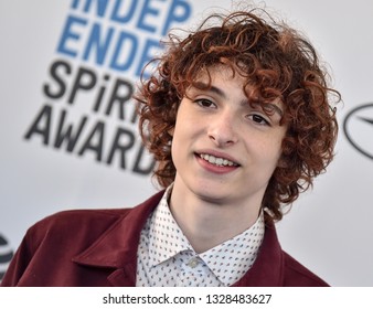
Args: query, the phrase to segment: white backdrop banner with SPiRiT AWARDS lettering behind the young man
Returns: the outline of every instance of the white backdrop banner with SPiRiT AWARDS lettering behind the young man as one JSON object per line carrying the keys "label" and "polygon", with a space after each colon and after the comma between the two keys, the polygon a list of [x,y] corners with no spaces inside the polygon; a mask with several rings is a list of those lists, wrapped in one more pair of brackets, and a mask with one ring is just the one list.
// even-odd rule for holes
{"label": "white backdrop banner with SPiRiT AWARDS lettering behind the young man", "polygon": [[[1,0],[0,280],[42,217],[132,206],[157,191],[131,99],[141,70],[171,29],[231,6]],[[281,244],[332,286],[373,286],[373,3],[260,6],[306,33],[343,96],[335,160],[278,224]]]}

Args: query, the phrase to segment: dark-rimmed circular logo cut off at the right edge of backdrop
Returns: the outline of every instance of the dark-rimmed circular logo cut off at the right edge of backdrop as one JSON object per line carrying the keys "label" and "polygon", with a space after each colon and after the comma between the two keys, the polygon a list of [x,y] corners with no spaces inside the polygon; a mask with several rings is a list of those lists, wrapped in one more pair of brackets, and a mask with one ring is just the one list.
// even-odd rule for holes
{"label": "dark-rimmed circular logo cut off at the right edge of backdrop", "polygon": [[343,130],[350,143],[373,160],[373,103],[352,109],[344,118]]}

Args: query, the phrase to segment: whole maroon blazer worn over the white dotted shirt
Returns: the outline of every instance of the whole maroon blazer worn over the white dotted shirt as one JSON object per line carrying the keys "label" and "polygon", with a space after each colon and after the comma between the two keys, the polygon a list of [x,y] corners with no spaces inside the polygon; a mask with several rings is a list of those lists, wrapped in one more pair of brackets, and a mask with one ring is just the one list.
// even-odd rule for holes
{"label": "whole maroon blazer worn over the white dotted shirt", "polygon": [[[26,232],[1,286],[135,286],[140,232],[162,194],[132,209],[64,211],[40,221]],[[281,249],[269,225],[253,267],[234,286],[328,285]]]}

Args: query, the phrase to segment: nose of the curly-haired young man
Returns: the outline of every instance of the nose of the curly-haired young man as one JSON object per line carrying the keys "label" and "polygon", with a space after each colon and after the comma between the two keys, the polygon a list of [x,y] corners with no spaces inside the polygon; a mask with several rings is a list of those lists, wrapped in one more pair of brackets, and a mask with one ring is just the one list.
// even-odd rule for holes
{"label": "nose of the curly-haired young man", "polygon": [[226,147],[237,142],[235,118],[230,111],[215,115],[209,119],[209,138],[219,147]]}

